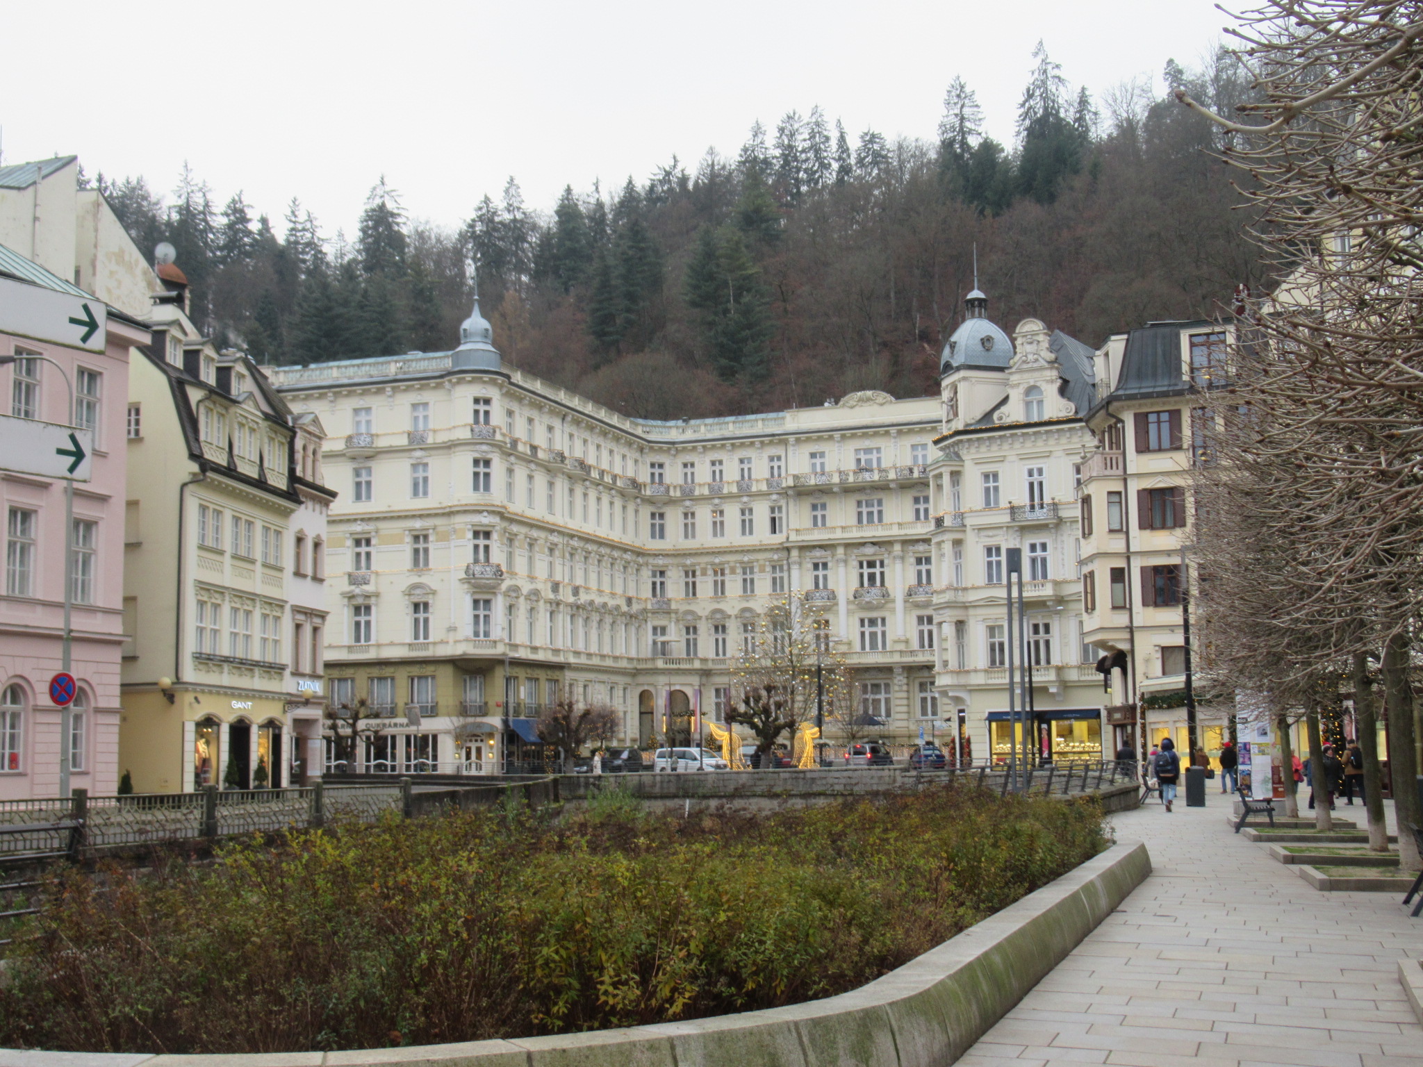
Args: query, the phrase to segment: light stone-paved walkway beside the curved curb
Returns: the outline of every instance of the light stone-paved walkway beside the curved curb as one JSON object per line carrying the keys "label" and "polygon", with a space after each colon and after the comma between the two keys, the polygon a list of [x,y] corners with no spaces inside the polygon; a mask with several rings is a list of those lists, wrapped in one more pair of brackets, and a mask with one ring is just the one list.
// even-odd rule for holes
{"label": "light stone-paved walkway beside the curved curb", "polygon": [[[1402,956],[1423,959],[1423,916],[1402,893],[1311,889],[1231,834],[1228,811],[1212,791],[1205,808],[1114,815],[1151,878],[959,1067],[1423,1067],[1397,979]],[[1363,825],[1358,804],[1339,814]]]}

